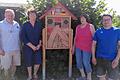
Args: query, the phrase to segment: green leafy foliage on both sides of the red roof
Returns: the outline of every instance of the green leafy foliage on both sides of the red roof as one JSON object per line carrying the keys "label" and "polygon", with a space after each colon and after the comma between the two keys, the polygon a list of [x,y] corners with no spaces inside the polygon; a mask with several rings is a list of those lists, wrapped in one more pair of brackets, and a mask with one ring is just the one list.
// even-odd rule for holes
{"label": "green leafy foliage on both sides of the red roof", "polygon": [[[107,4],[105,3],[105,0],[100,0],[98,4],[95,0],[59,0],[61,3],[63,3],[74,15],[77,17],[80,16],[80,14],[86,13],[89,15],[92,24],[98,28],[98,26],[101,26],[100,24],[100,16],[107,13],[112,13],[112,15],[115,15],[115,12],[110,9],[107,9]],[[39,15],[44,14],[47,10],[49,10],[51,7],[53,7],[57,3],[57,0],[33,0],[30,4],[28,2],[28,5],[32,5],[39,13]]]}

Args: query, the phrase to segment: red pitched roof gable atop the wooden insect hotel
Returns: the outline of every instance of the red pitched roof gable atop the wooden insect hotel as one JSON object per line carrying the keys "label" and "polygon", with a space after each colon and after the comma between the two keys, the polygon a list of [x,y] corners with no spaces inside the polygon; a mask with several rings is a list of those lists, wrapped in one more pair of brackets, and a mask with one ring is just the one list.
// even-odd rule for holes
{"label": "red pitched roof gable atop the wooden insect hotel", "polygon": [[46,11],[40,19],[44,18],[47,15],[63,15],[63,16],[71,16],[73,20],[77,20],[76,16],[74,16],[61,2],[58,1],[58,3]]}

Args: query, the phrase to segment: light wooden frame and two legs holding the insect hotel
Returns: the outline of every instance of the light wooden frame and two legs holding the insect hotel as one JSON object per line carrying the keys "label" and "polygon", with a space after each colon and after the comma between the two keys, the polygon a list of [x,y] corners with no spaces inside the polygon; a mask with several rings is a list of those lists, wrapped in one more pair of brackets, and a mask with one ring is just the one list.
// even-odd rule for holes
{"label": "light wooden frame and two legs holding the insect hotel", "polygon": [[[47,17],[68,17],[70,19],[69,21],[69,27],[68,27],[68,48],[48,48],[47,47]],[[73,40],[73,30],[71,29],[71,16],[56,16],[56,15],[51,15],[51,16],[46,16],[45,18],[45,28],[42,31],[42,36],[43,36],[43,68],[42,68],[42,73],[43,73],[43,80],[45,80],[45,75],[46,75],[46,49],[69,49],[69,73],[68,76],[71,77],[72,76],[72,40]]]}

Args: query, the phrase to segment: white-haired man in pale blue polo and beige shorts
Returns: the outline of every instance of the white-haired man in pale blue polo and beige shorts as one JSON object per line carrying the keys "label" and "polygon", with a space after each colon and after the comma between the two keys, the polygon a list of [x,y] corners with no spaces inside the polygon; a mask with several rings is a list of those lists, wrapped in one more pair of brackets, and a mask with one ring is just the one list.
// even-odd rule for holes
{"label": "white-haired man in pale blue polo and beige shorts", "polygon": [[[12,9],[5,10],[5,19],[0,21],[1,50],[5,53],[1,57],[1,65],[4,69],[6,78],[11,75],[14,77],[16,66],[20,65],[20,26],[14,21],[15,13]],[[12,74],[9,74],[8,70]],[[8,79],[7,79],[8,80]]]}

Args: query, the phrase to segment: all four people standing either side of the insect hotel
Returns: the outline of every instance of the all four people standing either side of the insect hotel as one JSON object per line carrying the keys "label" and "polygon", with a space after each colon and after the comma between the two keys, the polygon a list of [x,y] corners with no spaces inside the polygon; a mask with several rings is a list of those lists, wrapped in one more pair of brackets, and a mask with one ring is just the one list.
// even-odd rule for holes
{"label": "all four people standing either side of the insect hotel", "polygon": [[[35,10],[28,10],[27,15],[28,21],[22,28],[14,21],[15,13],[12,9],[6,9],[4,20],[0,21],[0,68],[4,69],[5,78],[8,75],[13,80],[15,78],[16,66],[21,65],[20,42],[22,42],[28,72],[27,80],[38,80],[37,72],[42,52],[42,24],[36,20]],[[101,19],[103,27],[96,31],[89,23],[87,15],[83,14],[79,19],[80,24],[76,27],[72,53],[75,51],[76,66],[81,77],[94,80],[91,77],[92,62],[97,68],[99,80],[117,80],[120,29],[112,26],[112,16],[103,15]]]}

